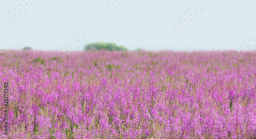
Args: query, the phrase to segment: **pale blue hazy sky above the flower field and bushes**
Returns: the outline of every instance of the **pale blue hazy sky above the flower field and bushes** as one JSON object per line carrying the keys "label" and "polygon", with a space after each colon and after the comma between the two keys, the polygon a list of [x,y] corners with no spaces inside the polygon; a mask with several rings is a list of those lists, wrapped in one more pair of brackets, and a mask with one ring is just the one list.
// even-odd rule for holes
{"label": "pale blue hazy sky above the flower field and bushes", "polygon": [[254,0],[0,0],[0,49],[83,50],[97,41],[130,50],[256,49],[255,7]]}

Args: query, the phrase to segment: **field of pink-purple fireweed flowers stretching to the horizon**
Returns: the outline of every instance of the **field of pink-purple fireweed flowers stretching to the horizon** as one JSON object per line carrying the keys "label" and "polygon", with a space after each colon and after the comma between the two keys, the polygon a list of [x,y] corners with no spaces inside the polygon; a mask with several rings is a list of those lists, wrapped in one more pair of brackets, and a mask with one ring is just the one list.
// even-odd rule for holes
{"label": "field of pink-purple fireweed flowers stretching to the horizon", "polygon": [[0,138],[256,138],[256,51],[1,50],[0,80]]}

